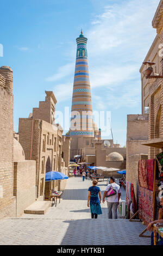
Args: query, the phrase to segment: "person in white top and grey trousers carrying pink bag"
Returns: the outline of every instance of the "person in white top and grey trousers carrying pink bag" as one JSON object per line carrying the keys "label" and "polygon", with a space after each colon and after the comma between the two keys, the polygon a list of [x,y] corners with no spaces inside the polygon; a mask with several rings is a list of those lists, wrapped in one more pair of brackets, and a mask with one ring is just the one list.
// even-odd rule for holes
{"label": "person in white top and grey trousers carrying pink bag", "polygon": [[115,179],[113,177],[110,177],[108,186],[106,187],[106,190],[104,192],[103,196],[103,203],[105,203],[105,195],[112,187],[116,194],[113,196],[110,196],[107,198],[107,205],[108,205],[108,218],[114,218],[117,219],[117,208],[121,197],[121,188],[118,184],[115,183]]}

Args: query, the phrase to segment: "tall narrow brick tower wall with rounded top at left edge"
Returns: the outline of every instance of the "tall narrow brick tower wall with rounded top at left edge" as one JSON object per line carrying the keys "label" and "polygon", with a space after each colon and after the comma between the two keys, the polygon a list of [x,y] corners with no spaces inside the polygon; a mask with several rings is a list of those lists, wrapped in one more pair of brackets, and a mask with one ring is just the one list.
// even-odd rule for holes
{"label": "tall narrow brick tower wall with rounded top at left edge", "polygon": [[15,216],[12,70],[0,68],[0,218]]}

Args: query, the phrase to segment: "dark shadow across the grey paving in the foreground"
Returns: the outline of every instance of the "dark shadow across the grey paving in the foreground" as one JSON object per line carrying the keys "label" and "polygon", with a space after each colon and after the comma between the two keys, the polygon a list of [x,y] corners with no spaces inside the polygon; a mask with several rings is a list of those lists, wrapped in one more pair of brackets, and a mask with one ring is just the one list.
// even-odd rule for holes
{"label": "dark shadow across the grey paving in the foreground", "polygon": [[151,239],[139,237],[144,227],[127,220],[67,220],[61,245],[150,245]]}

